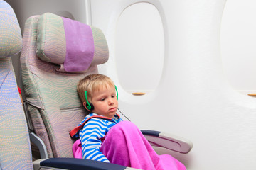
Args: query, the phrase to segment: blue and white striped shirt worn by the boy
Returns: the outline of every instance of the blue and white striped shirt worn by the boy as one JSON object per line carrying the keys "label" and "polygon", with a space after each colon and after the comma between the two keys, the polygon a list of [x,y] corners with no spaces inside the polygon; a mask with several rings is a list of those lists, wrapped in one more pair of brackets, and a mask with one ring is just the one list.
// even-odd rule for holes
{"label": "blue and white striped shirt worn by the boy", "polygon": [[[97,114],[88,114],[85,119],[82,120],[82,123],[95,115]],[[97,160],[101,162],[110,162],[107,160],[104,154],[100,152],[100,147],[102,144],[101,139],[105,137],[110,128],[121,121],[123,120],[119,118],[118,115],[114,115],[114,118],[108,120],[104,118],[91,118],[88,120],[88,122],[85,123],[84,127],[79,132],[80,140],[82,143],[82,158]],[[80,123],[80,125],[82,123]]]}

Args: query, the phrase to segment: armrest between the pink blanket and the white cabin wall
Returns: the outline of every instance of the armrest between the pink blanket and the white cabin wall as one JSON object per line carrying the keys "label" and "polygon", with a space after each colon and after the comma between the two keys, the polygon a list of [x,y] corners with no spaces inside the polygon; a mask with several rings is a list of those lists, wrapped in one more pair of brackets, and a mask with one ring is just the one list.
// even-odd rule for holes
{"label": "armrest between the pink blanket and the white cabin wall", "polygon": [[183,137],[154,130],[141,131],[152,146],[164,147],[183,154],[190,152],[193,147],[192,142]]}

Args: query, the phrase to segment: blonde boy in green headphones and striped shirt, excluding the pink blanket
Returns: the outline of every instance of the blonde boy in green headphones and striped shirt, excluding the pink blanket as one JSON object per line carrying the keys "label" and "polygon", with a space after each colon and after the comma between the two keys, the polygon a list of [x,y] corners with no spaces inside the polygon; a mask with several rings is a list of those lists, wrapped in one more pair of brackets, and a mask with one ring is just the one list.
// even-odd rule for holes
{"label": "blonde boy in green headphones and striped shirt, excluding the pink blanket", "polygon": [[[107,132],[122,119],[117,115],[117,91],[113,81],[102,74],[90,74],[78,82],[78,94],[90,113],[79,132],[82,158],[110,162],[100,147]],[[78,125],[78,126],[80,126]]]}

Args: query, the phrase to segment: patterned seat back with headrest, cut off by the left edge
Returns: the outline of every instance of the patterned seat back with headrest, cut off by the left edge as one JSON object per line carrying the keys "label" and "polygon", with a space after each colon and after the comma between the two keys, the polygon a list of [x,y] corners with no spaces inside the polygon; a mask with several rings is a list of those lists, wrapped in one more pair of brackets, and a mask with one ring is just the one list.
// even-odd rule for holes
{"label": "patterned seat back with headrest, cut off by the left edge", "polygon": [[21,50],[16,15],[0,1],[0,169],[33,169],[30,141],[11,55]]}

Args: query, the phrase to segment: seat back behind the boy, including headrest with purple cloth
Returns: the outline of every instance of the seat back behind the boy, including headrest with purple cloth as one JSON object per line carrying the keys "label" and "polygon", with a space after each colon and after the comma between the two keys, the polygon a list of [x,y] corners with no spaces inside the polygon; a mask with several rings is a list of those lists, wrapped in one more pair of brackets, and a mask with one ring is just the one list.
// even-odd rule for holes
{"label": "seat back behind the boy, including headrest with purple cloth", "polygon": [[69,132],[87,114],[76,86],[107,60],[107,42],[100,29],[53,13],[26,21],[23,89],[33,128],[45,143],[48,157],[73,157]]}

